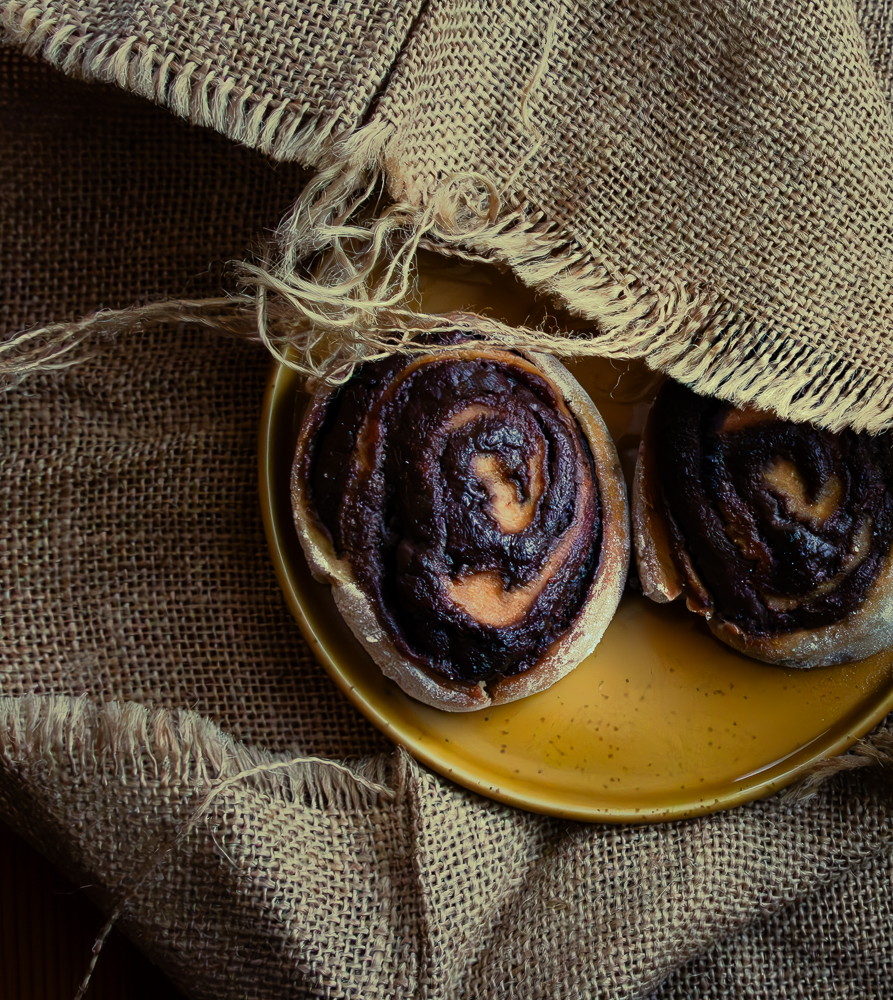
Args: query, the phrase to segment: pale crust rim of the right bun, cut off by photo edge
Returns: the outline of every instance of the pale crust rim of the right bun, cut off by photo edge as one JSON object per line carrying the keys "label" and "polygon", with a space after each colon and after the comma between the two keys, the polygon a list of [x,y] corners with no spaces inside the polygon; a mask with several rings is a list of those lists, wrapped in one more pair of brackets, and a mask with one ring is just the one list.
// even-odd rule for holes
{"label": "pale crust rim of the right bun, cut off by photo edge", "polygon": [[[646,597],[666,603],[684,596],[686,584],[703,594],[701,602],[686,599],[689,610],[704,615],[711,632],[746,656],[782,667],[827,667],[862,660],[893,646],[893,553],[865,600],[842,621],[817,629],[797,629],[776,635],[748,635],[737,625],[704,610],[709,595],[689,563],[684,571],[670,550],[670,531],[654,493],[648,433],[642,438],[633,480],[632,524],[639,580]],[[686,580],[686,577],[688,578]]]}

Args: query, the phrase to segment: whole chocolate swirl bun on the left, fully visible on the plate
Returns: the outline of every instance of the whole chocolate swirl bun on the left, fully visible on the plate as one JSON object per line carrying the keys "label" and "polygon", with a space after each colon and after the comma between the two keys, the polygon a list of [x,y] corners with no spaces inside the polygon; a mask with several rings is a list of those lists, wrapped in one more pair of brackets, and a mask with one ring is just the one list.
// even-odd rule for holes
{"label": "whole chocolate swirl bun on the left, fully visible on the plate", "polygon": [[452,711],[573,669],[616,609],[629,549],[588,396],[550,358],[463,343],[315,396],[292,476],[314,575],[388,677]]}

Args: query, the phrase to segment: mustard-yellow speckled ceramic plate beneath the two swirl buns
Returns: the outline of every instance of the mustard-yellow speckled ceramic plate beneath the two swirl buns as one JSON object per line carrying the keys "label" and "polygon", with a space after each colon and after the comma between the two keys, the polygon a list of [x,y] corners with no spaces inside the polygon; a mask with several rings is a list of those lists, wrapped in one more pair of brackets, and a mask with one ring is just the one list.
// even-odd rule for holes
{"label": "mustard-yellow speckled ceramic plate beneath the two swirl buns", "polygon": [[[635,402],[643,396],[636,391],[642,373],[589,362],[575,374],[628,458],[647,408]],[[298,544],[289,500],[305,402],[298,386],[288,369],[274,372],[261,427],[261,497],[279,581],[347,697],[441,774],[569,819],[679,819],[777,791],[893,710],[893,652],[843,667],[785,670],[723,646],[684,608],[633,594],[593,655],[548,691],[471,713],[412,700],[353,638]]]}

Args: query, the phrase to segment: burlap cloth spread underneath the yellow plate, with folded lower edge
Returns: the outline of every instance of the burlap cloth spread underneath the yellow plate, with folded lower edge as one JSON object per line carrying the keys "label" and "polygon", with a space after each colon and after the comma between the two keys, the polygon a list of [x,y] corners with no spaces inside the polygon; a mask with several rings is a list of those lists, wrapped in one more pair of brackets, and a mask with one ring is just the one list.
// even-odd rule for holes
{"label": "burlap cloth spread underneath the yellow plate, with folded lower edge", "polygon": [[[58,37],[50,28],[42,41]],[[114,46],[90,41],[105,65]],[[382,65],[400,45],[379,48]],[[523,86],[542,50],[538,38]],[[209,261],[245,257],[306,182],[14,50],[2,65],[9,333],[220,298]],[[534,123],[554,65],[530,92]],[[388,91],[376,91],[349,124],[382,109]],[[267,364],[244,341],[152,327],[101,337],[79,365],[5,394],[10,822],[89,876],[195,996],[887,995],[884,731],[869,765],[806,800],[654,827],[521,813],[394,756],[313,661],[265,554],[255,434]],[[288,763],[309,757],[359,780]]]}

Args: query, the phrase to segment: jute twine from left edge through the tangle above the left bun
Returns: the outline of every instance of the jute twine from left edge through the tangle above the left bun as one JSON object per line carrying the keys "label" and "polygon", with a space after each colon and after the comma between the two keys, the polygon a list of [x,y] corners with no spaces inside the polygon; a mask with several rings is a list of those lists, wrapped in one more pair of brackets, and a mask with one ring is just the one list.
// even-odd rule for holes
{"label": "jute twine from left edge through the tangle above the left bun", "polygon": [[[367,185],[367,190],[371,187]],[[369,198],[374,198],[374,192]],[[360,215],[366,201],[332,206],[344,218]],[[303,216],[306,195],[296,213]],[[314,206],[318,207],[318,206]],[[475,331],[489,346],[546,351],[563,357],[610,356],[603,344],[584,339],[579,331],[509,326],[474,312],[426,314],[412,307],[416,294],[417,251],[436,250],[469,262],[493,263],[494,255],[467,249],[491,233],[523,226],[518,210],[503,214],[493,183],[480,175],[459,175],[445,185],[441,198],[419,212],[394,204],[366,226],[350,217],[315,222],[313,232],[329,239],[329,249],[317,257],[311,276],[293,262],[294,241],[277,264],[241,263],[236,273],[245,292],[204,300],[168,300],[122,310],[105,310],[74,323],[56,323],[15,335],[0,344],[0,379],[5,387],[39,371],[60,371],[91,356],[90,343],[128,331],[145,331],[165,324],[197,324],[263,343],[283,365],[315,381],[342,384],[358,364],[394,353],[430,353],[421,336]],[[544,254],[546,239],[542,239]],[[561,266],[573,262],[561,258]],[[647,327],[664,329],[672,312],[689,312],[694,303],[677,289],[672,308],[647,299],[618,295],[606,305],[609,318],[635,318]],[[678,320],[681,322],[681,320]],[[676,322],[676,321],[672,321]],[[644,335],[644,334],[643,334]],[[451,350],[452,348],[438,348]],[[628,351],[621,349],[618,356]]]}

